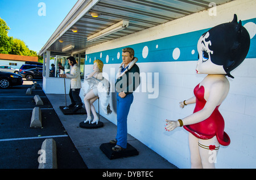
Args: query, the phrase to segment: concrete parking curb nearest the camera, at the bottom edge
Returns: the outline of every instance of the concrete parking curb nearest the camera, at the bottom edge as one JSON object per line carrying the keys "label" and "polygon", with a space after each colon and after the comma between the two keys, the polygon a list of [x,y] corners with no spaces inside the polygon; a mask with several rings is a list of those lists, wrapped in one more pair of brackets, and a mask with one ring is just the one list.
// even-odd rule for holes
{"label": "concrete parking curb nearest the camera, at the bottom edge", "polygon": [[57,169],[57,153],[55,140],[46,139],[42,143],[38,158],[38,169]]}

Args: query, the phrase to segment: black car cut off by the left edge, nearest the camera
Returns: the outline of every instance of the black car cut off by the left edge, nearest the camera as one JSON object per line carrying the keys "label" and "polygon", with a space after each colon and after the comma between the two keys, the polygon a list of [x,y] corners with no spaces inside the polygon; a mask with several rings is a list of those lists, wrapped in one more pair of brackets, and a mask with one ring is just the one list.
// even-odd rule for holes
{"label": "black car cut off by the left edge, nearest the camera", "polygon": [[14,85],[22,85],[22,76],[15,74],[13,72],[3,72],[0,71],[0,88],[6,89]]}

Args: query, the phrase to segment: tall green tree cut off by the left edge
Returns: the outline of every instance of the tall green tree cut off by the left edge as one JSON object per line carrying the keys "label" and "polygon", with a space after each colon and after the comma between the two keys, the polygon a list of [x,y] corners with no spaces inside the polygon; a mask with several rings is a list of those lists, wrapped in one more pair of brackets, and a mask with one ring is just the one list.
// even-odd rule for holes
{"label": "tall green tree cut off by the left edge", "polygon": [[13,46],[13,37],[8,36],[9,27],[5,20],[0,18],[0,53],[9,54]]}

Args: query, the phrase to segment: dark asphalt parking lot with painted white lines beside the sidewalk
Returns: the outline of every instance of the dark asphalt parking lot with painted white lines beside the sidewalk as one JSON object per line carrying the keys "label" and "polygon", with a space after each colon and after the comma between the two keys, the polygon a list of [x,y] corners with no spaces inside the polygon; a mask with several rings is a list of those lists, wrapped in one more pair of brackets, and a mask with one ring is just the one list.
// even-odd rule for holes
{"label": "dark asphalt parking lot with painted white lines beside the sidewalk", "polygon": [[[0,89],[0,169],[37,169],[38,151],[47,138],[56,142],[58,169],[86,169],[42,88],[38,85],[32,95],[26,95],[27,88],[32,86],[26,83]],[[42,128],[30,128],[32,109],[38,106],[35,95],[44,102],[40,105]]]}

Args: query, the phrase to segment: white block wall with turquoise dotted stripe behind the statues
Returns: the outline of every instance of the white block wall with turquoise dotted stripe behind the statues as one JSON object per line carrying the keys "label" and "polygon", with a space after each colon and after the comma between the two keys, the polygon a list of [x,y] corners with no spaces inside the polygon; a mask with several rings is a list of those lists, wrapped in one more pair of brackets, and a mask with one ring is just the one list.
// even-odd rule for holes
{"label": "white block wall with turquoise dotted stripe behind the statues", "polygon": [[[205,29],[231,22],[233,15],[237,14],[243,25],[249,22],[246,28],[252,36],[251,46],[247,59],[231,73],[235,78],[229,78],[229,95],[220,106],[231,144],[221,146],[216,168],[256,168],[255,9],[254,0],[236,0],[217,6],[217,16],[209,16],[209,11],[202,11],[86,49],[85,74],[92,72],[94,59],[101,59],[105,64],[105,77],[109,78],[113,90],[114,75],[122,62],[121,54],[118,59],[118,52],[121,53],[125,46],[134,48],[142,78],[148,80],[150,74],[153,76],[150,82],[142,80],[139,91],[134,93],[128,116],[128,132],[177,167],[191,168],[188,132],[184,128],[166,132],[165,119],[176,120],[193,112],[194,105],[181,109],[179,102],[192,97],[193,88],[205,77],[197,75],[195,71],[197,40]],[[180,49],[180,54],[175,48]],[[151,53],[155,54],[152,56],[154,58],[150,57]],[[151,82],[158,87],[158,92]],[[157,98],[148,98],[154,93]],[[113,108],[114,93],[111,97],[110,105]],[[116,124],[115,112],[104,116]]]}

